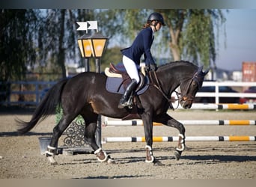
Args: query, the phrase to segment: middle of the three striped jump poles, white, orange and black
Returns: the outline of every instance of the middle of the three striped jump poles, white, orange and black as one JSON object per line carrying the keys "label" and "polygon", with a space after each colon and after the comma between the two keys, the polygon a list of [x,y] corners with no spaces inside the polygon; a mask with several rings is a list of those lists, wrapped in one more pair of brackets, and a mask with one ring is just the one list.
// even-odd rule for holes
{"label": "middle of the three striped jump poles, white, orange and black", "polygon": [[[250,126],[256,125],[256,120],[178,120],[186,126]],[[143,126],[142,120],[106,120],[104,126]],[[162,123],[153,123],[153,126],[162,126]]]}

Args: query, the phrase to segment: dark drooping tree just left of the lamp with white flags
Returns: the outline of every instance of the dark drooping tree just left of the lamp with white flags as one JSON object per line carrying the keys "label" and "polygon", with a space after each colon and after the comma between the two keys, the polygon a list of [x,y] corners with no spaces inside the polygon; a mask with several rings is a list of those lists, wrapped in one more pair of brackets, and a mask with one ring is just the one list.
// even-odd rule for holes
{"label": "dark drooping tree just left of the lamp with white flags", "polygon": [[55,64],[62,78],[66,77],[66,63],[77,56],[76,19],[83,20],[90,10],[46,10],[40,27],[40,60]]}

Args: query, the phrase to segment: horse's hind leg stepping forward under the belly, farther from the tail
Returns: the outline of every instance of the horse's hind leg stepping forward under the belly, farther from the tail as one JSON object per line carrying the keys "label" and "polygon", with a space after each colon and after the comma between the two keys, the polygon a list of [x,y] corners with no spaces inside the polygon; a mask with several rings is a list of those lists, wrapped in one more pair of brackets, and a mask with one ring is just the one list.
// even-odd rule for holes
{"label": "horse's hind leg stepping forward under the belly, farther from the tail", "polygon": [[90,112],[90,114],[82,114],[82,117],[85,120],[85,142],[91,145],[91,148],[94,150],[94,154],[97,156],[98,161],[114,163],[110,156],[106,154],[101,147],[96,143],[95,132],[97,129],[97,119],[98,114]]}

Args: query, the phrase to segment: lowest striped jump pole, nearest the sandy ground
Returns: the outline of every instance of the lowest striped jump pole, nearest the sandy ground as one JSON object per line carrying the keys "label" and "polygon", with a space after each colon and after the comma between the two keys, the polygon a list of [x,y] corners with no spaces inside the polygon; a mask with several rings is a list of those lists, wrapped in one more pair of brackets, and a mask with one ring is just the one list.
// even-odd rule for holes
{"label": "lowest striped jump pole, nearest the sandy ground", "polygon": [[[178,141],[178,136],[153,137],[153,142]],[[144,137],[106,137],[108,142],[145,142]],[[256,136],[187,136],[186,141],[256,141]]]}

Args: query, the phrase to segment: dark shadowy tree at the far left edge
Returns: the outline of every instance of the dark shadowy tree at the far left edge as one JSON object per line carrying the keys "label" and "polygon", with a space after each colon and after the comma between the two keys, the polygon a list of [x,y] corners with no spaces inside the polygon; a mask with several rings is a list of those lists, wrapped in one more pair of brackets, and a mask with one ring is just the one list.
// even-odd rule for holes
{"label": "dark shadowy tree at the far left edge", "polygon": [[0,81],[23,79],[36,61],[37,10],[0,10]]}

